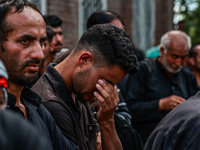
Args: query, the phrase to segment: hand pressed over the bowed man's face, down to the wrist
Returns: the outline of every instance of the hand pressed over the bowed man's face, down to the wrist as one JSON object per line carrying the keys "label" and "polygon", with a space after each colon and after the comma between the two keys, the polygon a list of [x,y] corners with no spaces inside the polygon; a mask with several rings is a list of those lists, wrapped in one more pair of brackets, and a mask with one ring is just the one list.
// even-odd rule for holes
{"label": "hand pressed over the bowed man's face, down to the wrist", "polygon": [[113,120],[113,114],[120,101],[117,86],[100,79],[96,84],[96,88],[98,92],[94,92],[94,96],[98,99],[100,105],[97,113],[98,122],[103,123],[104,121]]}

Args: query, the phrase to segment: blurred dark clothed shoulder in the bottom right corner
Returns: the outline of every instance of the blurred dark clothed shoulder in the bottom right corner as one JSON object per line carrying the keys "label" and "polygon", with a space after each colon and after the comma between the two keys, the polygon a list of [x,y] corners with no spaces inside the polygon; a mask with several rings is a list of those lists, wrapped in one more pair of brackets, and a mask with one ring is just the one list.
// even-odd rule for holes
{"label": "blurred dark clothed shoulder in the bottom right corner", "polygon": [[148,138],[144,150],[199,150],[200,92],[166,115]]}

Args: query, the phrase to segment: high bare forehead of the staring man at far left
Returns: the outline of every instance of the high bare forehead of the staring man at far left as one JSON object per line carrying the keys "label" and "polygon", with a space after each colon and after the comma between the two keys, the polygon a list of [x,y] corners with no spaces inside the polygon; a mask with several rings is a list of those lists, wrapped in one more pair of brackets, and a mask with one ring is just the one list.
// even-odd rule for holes
{"label": "high bare forehead of the staring man at far left", "polygon": [[29,31],[40,31],[41,34],[46,32],[45,22],[39,12],[31,7],[24,7],[21,12],[11,11],[6,16],[6,24],[11,27],[11,31],[19,31],[20,33]]}

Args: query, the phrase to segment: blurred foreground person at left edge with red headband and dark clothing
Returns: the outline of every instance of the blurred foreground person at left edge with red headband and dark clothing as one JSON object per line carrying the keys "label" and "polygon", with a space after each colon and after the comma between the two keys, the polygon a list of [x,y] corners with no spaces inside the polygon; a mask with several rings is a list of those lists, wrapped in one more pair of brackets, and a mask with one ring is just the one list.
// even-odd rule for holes
{"label": "blurred foreground person at left edge with red headband and dark clothing", "polygon": [[[0,147],[6,150],[51,150],[52,147],[33,125],[5,110],[8,103],[8,74],[0,60]],[[20,136],[19,136],[20,135]]]}

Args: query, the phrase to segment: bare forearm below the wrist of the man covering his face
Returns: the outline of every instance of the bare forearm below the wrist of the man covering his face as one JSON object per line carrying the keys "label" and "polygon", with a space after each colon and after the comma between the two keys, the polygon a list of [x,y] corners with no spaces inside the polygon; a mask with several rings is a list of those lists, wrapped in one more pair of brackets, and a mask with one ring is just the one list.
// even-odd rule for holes
{"label": "bare forearm below the wrist of the man covering his face", "polygon": [[99,123],[102,139],[102,150],[123,150],[115,129],[114,119]]}

